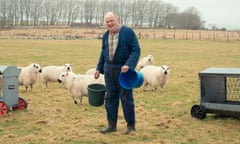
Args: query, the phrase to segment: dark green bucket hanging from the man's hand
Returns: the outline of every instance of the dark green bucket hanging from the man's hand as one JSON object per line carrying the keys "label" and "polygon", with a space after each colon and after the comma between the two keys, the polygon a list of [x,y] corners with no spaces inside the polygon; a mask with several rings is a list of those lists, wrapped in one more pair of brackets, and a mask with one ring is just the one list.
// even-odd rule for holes
{"label": "dark green bucket hanging from the man's hand", "polygon": [[88,85],[88,102],[92,106],[101,106],[104,103],[105,86],[103,84]]}

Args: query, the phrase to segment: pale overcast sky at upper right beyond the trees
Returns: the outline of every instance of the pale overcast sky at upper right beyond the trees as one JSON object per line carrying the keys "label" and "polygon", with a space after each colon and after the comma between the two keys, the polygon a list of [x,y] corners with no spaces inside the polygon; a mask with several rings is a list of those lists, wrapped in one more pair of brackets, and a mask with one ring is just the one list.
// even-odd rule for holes
{"label": "pale overcast sky at upper right beyond the trees", "polygon": [[240,0],[163,0],[179,8],[182,12],[188,7],[199,10],[205,27],[216,25],[228,30],[240,29]]}

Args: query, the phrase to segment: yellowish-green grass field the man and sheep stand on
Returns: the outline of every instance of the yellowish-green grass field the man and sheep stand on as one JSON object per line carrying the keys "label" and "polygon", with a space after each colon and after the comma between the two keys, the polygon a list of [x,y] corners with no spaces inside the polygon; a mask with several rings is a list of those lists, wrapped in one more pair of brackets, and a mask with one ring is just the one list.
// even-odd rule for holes
{"label": "yellowish-green grass field the man and sheep stand on", "polygon": [[[41,66],[72,64],[75,73],[95,67],[100,40],[0,40],[0,65]],[[102,135],[104,106],[93,107],[84,97],[75,105],[66,88],[37,83],[19,95],[28,109],[0,117],[0,143],[13,144],[239,144],[240,121],[208,114],[192,118],[199,104],[198,73],[209,67],[240,67],[240,42],[140,40],[141,56],[152,54],[156,65],[171,67],[169,84],[155,92],[134,89],[136,132],[125,135],[119,108],[118,131]]]}

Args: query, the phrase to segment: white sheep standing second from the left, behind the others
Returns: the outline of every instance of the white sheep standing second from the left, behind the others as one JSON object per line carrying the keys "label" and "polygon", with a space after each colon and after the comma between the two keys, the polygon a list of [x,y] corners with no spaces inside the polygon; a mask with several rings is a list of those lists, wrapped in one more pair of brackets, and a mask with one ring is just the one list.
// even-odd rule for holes
{"label": "white sheep standing second from the left, behind the others", "polygon": [[57,82],[58,76],[62,72],[72,71],[72,67],[69,63],[63,66],[46,66],[42,69],[41,79],[42,85],[47,88],[48,82]]}

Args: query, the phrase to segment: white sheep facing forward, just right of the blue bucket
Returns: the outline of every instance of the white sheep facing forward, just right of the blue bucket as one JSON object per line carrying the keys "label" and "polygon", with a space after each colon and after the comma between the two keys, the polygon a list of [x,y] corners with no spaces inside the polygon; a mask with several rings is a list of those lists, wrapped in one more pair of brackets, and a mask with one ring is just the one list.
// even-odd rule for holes
{"label": "white sheep facing forward, just right of the blue bucket", "polygon": [[157,90],[159,85],[161,88],[167,85],[170,68],[167,65],[148,65],[142,68],[140,73],[142,73],[144,77],[143,90],[146,91],[148,85],[153,87],[154,90]]}

